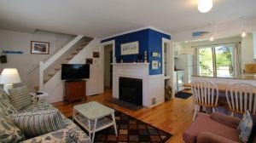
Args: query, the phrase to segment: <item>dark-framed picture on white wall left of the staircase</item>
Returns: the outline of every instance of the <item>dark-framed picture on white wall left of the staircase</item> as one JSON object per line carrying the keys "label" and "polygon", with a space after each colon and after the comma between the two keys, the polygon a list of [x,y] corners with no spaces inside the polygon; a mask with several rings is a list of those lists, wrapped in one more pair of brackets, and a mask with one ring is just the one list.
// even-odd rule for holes
{"label": "dark-framed picture on white wall left of the staircase", "polygon": [[31,54],[49,54],[49,43],[32,41]]}

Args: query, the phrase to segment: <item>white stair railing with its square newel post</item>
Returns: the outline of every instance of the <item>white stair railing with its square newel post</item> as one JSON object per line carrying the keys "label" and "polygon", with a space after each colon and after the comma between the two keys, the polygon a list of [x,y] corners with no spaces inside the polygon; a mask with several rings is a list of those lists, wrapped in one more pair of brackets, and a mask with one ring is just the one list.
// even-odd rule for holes
{"label": "white stair railing with its square newel post", "polygon": [[77,37],[73,38],[73,40],[67,45],[65,45],[61,50],[59,50],[56,54],[51,56],[49,60],[40,61],[39,62],[39,90],[44,89],[44,70],[47,69],[50,65],[52,65],[55,60],[58,60],[62,54],[65,54],[68,49],[71,49],[74,44],[78,43],[81,38],[83,38],[83,35],[78,35]]}

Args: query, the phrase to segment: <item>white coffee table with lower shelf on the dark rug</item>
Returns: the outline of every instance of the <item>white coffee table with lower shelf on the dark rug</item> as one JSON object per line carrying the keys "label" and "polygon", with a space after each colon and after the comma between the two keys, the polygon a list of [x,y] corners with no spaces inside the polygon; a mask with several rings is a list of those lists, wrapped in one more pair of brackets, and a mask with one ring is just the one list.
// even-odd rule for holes
{"label": "white coffee table with lower shelf on the dark rug", "polygon": [[[92,142],[97,131],[110,126],[113,126],[115,135],[118,135],[114,110],[96,101],[73,106],[73,120],[89,132]],[[92,137],[91,134],[93,134]]]}

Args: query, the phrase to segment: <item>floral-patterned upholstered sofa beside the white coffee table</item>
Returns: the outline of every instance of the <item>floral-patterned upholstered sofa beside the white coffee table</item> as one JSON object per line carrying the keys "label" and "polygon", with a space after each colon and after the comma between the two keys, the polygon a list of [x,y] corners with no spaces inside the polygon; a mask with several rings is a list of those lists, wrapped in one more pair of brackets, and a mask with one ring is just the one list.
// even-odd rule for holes
{"label": "floral-patterned upholstered sofa beside the white coffee table", "polygon": [[[3,89],[0,88],[0,142],[90,142],[88,135],[85,134],[83,130],[79,129],[79,127],[70,119],[64,117],[61,112],[55,109],[55,107],[46,101],[38,101],[37,97],[32,97],[31,100],[31,105],[22,107],[22,109],[18,110],[13,105],[14,102],[12,102],[13,100],[9,94],[6,94]],[[21,106],[24,106],[23,103],[25,102],[20,100]],[[40,134],[38,136],[30,136],[31,134],[25,134],[22,128],[24,129],[24,127],[28,127],[30,123],[43,119],[42,121],[39,121],[38,125],[41,124],[44,126],[44,124],[47,124],[47,122],[51,122],[49,119],[47,119],[47,117],[44,118],[44,116],[39,115],[41,112],[55,112],[55,115],[51,117],[57,118],[59,115],[59,118],[54,118],[53,123],[57,123],[58,120],[61,122],[63,121],[61,123],[61,127],[63,128],[55,129],[49,133]],[[38,117],[38,119],[35,119],[37,116],[41,118]],[[29,117],[33,117],[33,119],[28,120]],[[24,122],[23,120],[27,120],[27,122]],[[25,124],[25,126],[19,126],[17,121],[21,121],[20,123]],[[32,124],[32,126],[36,125]],[[30,128],[33,128],[32,126],[30,126]],[[50,124],[50,126],[54,126],[54,124]],[[40,128],[42,128],[42,126]],[[38,130],[42,131],[43,129],[40,128]],[[36,130],[37,129],[32,130],[32,133],[37,133]],[[45,132],[45,130],[43,131]]]}

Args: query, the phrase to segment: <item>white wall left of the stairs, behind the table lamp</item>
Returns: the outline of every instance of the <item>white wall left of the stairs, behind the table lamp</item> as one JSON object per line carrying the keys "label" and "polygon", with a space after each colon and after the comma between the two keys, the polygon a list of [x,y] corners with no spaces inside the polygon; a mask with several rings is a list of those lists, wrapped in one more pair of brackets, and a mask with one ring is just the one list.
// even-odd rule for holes
{"label": "white wall left of the stairs, behind the table lamp", "polygon": [[[27,85],[30,89],[38,86],[39,61],[45,61],[61,49],[74,36],[50,31],[35,31],[25,33],[0,30],[0,52],[3,50],[18,50],[23,54],[7,54],[7,63],[0,64],[0,70],[15,67],[20,73],[21,82],[16,86]],[[49,54],[31,54],[31,41],[49,43]]]}

